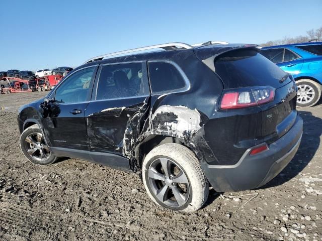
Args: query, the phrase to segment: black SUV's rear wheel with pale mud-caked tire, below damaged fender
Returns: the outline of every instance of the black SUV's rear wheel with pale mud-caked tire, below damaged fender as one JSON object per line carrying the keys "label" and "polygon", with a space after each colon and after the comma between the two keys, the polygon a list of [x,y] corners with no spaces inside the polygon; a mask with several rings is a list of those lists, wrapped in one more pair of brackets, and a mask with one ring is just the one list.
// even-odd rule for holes
{"label": "black SUV's rear wheel with pale mud-caked tire, below damaged fender", "polygon": [[179,144],[167,143],[150,151],[142,163],[142,177],[149,197],[166,208],[193,212],[208,198],[209,183],[197,157]]}

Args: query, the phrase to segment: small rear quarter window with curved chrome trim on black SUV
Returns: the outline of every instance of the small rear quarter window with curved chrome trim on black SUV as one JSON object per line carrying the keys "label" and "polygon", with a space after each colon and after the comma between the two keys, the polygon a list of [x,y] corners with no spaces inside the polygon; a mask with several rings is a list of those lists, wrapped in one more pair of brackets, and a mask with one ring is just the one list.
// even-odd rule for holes
{"label": "small rear quarter window with curved chrome trim on black SUV", "polygon": [[149,78],[152,93],[176,92],[187,88],[179,70],[168,62],[149,62]]}

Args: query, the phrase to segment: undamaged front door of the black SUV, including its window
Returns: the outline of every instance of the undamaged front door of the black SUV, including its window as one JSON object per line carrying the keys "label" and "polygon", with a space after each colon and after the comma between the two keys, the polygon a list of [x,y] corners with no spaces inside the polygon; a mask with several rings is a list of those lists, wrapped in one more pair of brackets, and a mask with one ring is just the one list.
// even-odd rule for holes
{"label": "undamaged front door of the black SUV, including its window", "polygon": [[96,70],[89,67],[74,72],[51,94],[54,100],[43,125],[53,148],[89,150],[84,113]]}

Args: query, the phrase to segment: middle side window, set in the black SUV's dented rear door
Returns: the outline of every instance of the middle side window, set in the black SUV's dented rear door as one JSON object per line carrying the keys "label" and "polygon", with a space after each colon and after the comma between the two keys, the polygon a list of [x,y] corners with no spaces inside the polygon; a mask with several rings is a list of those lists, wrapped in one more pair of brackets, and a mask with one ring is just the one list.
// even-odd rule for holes
{"label": "middle side window, set in the black SUV's dented rear door", "polygon": [[103,65],[97,85],[96,99],[115,99],[148,94],[142,63]]}

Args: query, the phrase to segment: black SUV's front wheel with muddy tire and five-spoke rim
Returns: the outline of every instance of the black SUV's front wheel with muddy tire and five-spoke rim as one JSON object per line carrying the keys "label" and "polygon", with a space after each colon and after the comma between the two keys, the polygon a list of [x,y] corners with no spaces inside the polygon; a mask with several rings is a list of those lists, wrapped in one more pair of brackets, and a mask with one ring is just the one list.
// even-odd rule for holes
{"label": "black SUV's front wheel with muddy tire and five-spoke rim", "polygon": [[35,164],[51,164],[58,159],[50,152],[38,125],[27,128],[21,134],[20,148],[25,157]]}

